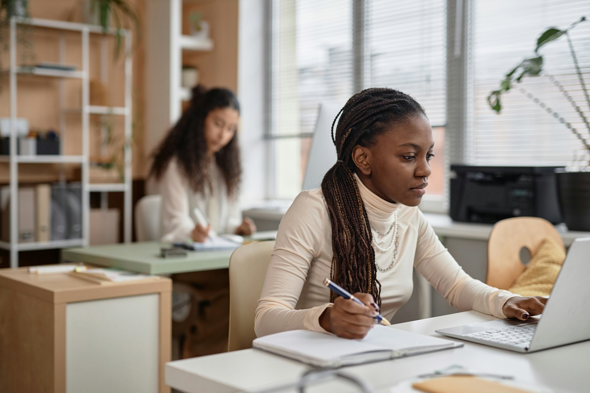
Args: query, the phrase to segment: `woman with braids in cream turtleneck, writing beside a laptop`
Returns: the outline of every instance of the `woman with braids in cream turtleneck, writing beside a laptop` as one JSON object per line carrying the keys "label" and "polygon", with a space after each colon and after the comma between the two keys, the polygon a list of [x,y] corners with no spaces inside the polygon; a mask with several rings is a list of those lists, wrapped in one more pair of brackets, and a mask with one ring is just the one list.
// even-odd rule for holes
{"label": "woman with braids in cream turtleneck, writing beside a laptop", "polygon": [[[521,320],[542,312],[542,297],[468,276],[419,211],[434,142],[417,101],[367,89],[341,113],[336,164],[321,188],[297,196],[278,229],[256,310],[258,336],[309,329],[363,338],[379,309],[390,319],[408,301],[413,268],[459,310]],[[326,277],[368,306],[335,299]]]}

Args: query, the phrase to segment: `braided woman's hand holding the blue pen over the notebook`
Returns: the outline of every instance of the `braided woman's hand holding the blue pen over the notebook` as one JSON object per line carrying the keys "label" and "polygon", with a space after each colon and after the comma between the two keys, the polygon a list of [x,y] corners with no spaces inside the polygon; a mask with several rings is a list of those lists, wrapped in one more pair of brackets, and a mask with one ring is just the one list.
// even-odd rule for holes
{"label": "braided woman's hand holding the blue pen over the notebook", "polygon": [[320,326],[338,337],[362,339],[375,325],[379,308],[369,293],[355,293],[354,296],[369,306],[362,306],[354,300],[336,297],[334,305],[320,316]]}

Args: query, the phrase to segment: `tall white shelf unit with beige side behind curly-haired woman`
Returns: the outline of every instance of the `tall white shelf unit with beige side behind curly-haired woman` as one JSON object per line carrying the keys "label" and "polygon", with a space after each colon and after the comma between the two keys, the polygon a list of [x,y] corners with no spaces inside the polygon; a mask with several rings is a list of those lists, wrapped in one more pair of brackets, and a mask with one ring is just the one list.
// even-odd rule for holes
{"label": "tall white shelf unit with beige side behind curly-haired woman", "polygon": [[182,54],[214,49],[214,42],[209,38],[182,34],[182,4],[183,0],[146,3],[146,25],[151,27],[145,35],[148,153],[181,116],[182,101],[191,99],[191,90],[181,87]]}

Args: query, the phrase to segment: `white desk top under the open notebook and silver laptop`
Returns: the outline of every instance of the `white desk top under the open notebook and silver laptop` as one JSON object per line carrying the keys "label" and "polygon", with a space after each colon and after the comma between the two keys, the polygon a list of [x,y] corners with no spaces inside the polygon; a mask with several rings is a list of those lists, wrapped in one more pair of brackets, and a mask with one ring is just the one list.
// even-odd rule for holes
{"label": "white desk top under the open notebook and silver laptop", "polygon": [[[437,335],[435,329],[492,320],[494,317],[470,311],[393,325],[396,329]],[[437,335],[438,336],[438,335]],[[343,368],[343,371],[372,383],[379,392],[412,376],[426,374],[450,365],[478,371],[514,375],[518,381],[544,385],[556,392],[584,392],[590,385],[588,359],[590,341],[533,353],[504,351],[466,342],[463,348],[410,356],[391,361]],[[188,393],[255,392],[299,380],[310,367],[271,353],[245,349],[201,358],[166,363],[166,384]],[[306,392],[353,392],[356,387],[344,381],[313,385]]]}

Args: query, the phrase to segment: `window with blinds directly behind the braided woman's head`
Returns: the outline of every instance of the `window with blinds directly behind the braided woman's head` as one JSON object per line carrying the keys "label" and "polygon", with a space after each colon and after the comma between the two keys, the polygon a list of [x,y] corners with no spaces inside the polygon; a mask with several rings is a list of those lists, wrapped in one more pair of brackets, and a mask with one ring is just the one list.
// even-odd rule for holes
{"label": "window with blinds directly behind the braided woman's head", "polygon": [[292,199],[301,191],[318,104],[323,100],[344,104],[356,92],[355,86],[392,87],[425,107],[436,141],[429,191],[442,194],[445,4],[445,0],[272,2],[267,135],[272,146],[271,198]]}

